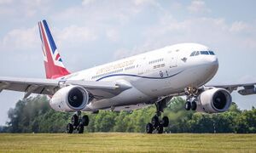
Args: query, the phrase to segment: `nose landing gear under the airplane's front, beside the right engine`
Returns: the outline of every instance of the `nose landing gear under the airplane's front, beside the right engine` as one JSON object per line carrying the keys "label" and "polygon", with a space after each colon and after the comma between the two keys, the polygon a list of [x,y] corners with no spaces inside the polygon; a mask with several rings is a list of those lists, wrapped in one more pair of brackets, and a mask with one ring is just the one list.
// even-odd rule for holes
{"label": "nose landing gear under the airplane's front, beside the right engine", "polygon": [[198,89],[197,88],[186,88],[185,94],[187,95],[187,100],[185,103],[185,110],[195,111],[197,108]]}

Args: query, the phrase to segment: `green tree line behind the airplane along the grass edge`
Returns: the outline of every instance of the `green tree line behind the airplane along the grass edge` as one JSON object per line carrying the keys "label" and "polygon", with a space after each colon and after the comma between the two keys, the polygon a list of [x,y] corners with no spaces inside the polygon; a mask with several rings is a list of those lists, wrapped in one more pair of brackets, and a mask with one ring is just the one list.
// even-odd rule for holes
{"label": "green tree line behind the airplane along the grass edge", "polygon": [[[235,103],[219,114],[185,111],[182,98],[172,99],[163,113],[170,119],[165,133],[256,133],[256,109],[241,111]],[[90,118],[85,132],[144,133],[154,116],[154,105],[137,111],[99,111]],[[73,113],[57,112],[49,107],[46,96],[20,99],[9,109],[9,122],[1,133],[64,133]]]}

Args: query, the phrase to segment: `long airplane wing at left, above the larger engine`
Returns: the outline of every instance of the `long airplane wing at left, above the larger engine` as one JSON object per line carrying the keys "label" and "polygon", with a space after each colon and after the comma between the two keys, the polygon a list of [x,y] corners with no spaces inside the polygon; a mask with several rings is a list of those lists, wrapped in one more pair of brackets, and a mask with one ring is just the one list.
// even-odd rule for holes
{"label": "long airplane wing at left, above the larger engine", "polygon": [[94,82],[80,80],[52,80],[38,78],[0,77],[0,92],[13,90],[30,94],[53,95],[67,85],[79,85],[85,88],[96,99],[107,99],[120,94],[131,86],[118,82]]}

